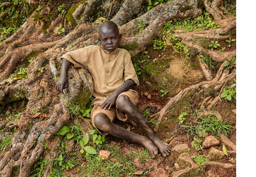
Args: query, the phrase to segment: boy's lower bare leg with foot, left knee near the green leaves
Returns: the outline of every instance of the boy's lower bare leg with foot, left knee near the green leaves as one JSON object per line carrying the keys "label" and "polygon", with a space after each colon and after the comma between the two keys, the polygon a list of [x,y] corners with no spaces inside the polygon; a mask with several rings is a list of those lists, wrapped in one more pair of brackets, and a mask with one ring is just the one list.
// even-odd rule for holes
{"label": "boy's lower bare leg with foot, left knee near the green leaves", "polygon": [[109,134],[116,136],[118,138],[127,139],[130,141],[134,141],[136,143],[140,143],[141,145],[147,148],[148,152],[150,153],[151,157],[154,158],[157,155],[157,147],[152,143],[150,139],[145,136],[141,136],[134,132],[128,131],[123,127],[120,127],[116,124],[113,124],[108,116],[104,113],[98,113],[95,115],[93,122],[97,129],[101,131],[108,132]]}

